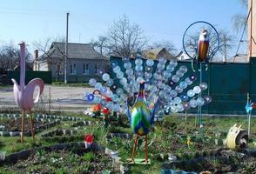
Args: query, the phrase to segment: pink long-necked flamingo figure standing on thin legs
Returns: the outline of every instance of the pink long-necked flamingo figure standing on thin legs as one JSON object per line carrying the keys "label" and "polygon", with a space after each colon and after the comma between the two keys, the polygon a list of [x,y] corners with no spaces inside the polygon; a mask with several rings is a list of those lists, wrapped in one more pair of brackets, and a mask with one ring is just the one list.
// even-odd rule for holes
{"label": "pink long-necked flamingo figure standing on thin legs", "polygon": [[[34,78],[29,84],[25,86],[25,43],[22,42],[20,45],[20,83],[17,84],[15,79],[11,79],[13,83],[13,93],[17,105],[22,110],[22,133],[21,133],[21,143],[24,142],[24,114],[25,110],[30,111],[30,131],[31,136],[34,137],[33,121],[32,121],[32,111],[34,104],[38,102],[40,95],[44,90],[44,81],[40,78]],[[36,99],[33,99],[34,91],[36,87],[39,87],[39,91]]]}

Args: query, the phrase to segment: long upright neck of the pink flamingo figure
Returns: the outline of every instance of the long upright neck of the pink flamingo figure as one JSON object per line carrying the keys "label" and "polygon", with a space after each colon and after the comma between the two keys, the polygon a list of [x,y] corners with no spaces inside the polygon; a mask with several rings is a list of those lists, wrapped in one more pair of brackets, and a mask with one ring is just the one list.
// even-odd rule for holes
{"label": "long upright neck of the pink flamingo figure", "polygon": [[25,86],[25,43],[20,43],[20,81],[19,86],[21,90],[24,90]]}

